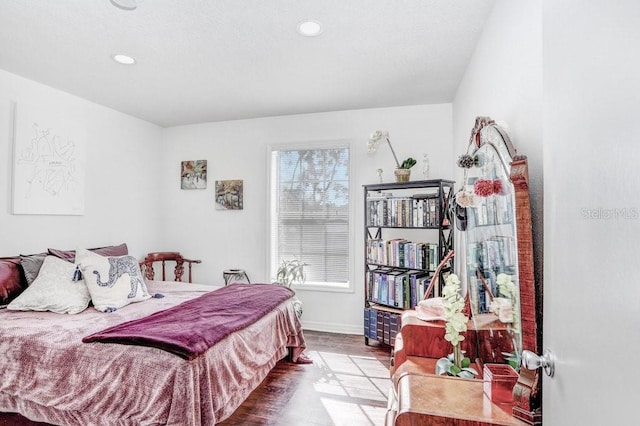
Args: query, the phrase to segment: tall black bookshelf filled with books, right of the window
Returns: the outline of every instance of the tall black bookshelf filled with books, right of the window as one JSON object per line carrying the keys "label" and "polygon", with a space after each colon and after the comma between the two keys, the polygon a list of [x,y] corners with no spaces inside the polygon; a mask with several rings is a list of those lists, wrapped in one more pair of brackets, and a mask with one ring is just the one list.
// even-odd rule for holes
{"label": "tall black bookshelf filled with books, right of the window", "polygon": [[423,299],[436,267],[453,249],[448,206],[454,183],[364,185],[365,344],[394,345],[400,316]]}

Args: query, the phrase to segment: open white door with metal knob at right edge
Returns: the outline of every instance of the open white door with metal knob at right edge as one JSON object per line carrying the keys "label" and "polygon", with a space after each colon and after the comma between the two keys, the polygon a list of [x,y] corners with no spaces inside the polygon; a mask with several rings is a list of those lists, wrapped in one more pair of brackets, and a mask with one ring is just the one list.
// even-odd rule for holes
{"label": "open white door with metal knob at right edge", "polygon": [[640,2],[544,0],[543,421],[640,424]]}

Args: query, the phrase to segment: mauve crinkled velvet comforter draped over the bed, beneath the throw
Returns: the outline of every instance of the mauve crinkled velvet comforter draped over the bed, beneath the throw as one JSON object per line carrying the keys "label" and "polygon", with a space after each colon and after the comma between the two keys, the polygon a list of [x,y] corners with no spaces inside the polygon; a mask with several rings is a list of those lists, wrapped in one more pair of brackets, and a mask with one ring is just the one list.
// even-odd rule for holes
{"label": "mauve crinkled velvet comforter draped over the bed, beneath the throw", "polygon": [[60,425],[214,425],[231,415],[276,362],[304,350],[291,299],[185,360],[152,347],[82,343],[84,336],[212,290],[148,282],[165,294],[78,315],[0,310],[0,411]]}

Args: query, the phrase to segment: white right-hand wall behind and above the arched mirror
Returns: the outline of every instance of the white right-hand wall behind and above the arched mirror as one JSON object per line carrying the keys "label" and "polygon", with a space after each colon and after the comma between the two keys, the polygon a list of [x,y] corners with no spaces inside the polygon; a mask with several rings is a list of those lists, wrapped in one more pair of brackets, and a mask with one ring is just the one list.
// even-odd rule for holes
{"label": "white right-hand wall behind and above the arched mirror", "polygon": [[[453,102],[454,162],[466,152],[476,116],[506,125],[526,155],[536,281],[542,282],[542,2],[498,0]],[[457,168],[458,180],[462,176]]]}

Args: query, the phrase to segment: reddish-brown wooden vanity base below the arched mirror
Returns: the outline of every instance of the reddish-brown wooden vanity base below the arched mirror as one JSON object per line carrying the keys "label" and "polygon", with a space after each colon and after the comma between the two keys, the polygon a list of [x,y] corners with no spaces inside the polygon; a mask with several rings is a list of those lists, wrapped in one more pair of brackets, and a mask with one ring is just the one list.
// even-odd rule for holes
{"label": "reddish-brown wooden vanity base below the arched mirror", "polygon": [[[479,328],[482,322],[470,327],[465,341],[475,341]],[[485,395],[482,376],[462,379],[433,374],[437,360],[450,349],[443,323],[421,321],[411,310],[402,314],[386,426],[525,425],[512,416],[513,404],[495,404]],[[482,371],[482,366],[476,369]]]}

